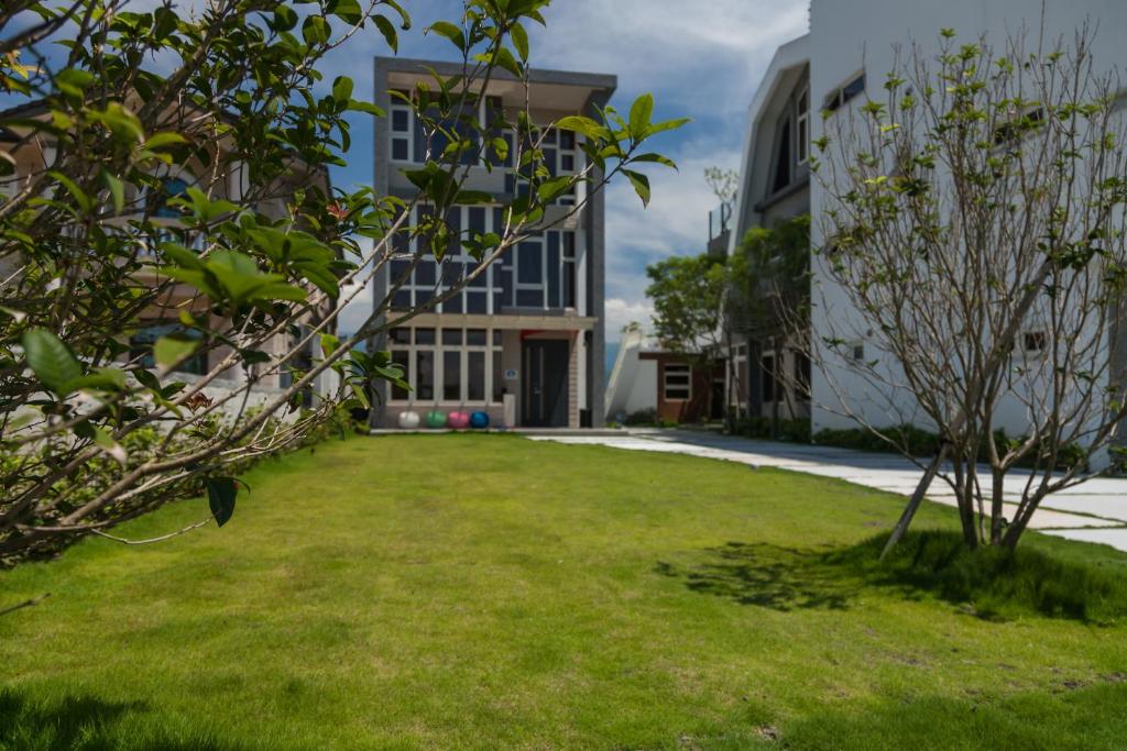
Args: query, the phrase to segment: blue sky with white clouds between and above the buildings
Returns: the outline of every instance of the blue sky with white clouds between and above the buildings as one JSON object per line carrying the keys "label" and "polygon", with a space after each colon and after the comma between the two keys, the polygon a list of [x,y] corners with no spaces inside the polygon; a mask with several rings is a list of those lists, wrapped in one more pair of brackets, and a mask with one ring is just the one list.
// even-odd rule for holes
{"label": "blue sky with white clouds between and above the buildings", "polygon": [[[453,46],[421,29],[438,19],[458,20],[459,0],[405,2],[412,29],[401,35],[399,54],[453,59]],[[691,8],[691,11],[687,10]],[[804,34],[808,0],[554,0],[544,14],[547,28],[530,27],[534,68],[613,73],[619,88],[612,105],[625,110],[651,92],[655,119],[691,117],[684,128],[655,138],[655,150],[677,162],[678,171],[656,167],[653,200],[644,209],[625,180],[606,194],[606,338],[618,341],[622,327],[648,327],[646,266],[674,254],[694,254],[708,241],[708,212],[717,199],[704,182],[710,166],[736,169],[747,107],[775,48]],[[389,54],[374,33],[365,43],[345,45],[326,61],[325,73],[345,73],[356,96],[372,91],[374,54]],[[349,166],[334,173],[340,187],[372,180],[371,118],[353,125]],[[341,314],[340,329],[354,329],[371,310],[362,296]]]}

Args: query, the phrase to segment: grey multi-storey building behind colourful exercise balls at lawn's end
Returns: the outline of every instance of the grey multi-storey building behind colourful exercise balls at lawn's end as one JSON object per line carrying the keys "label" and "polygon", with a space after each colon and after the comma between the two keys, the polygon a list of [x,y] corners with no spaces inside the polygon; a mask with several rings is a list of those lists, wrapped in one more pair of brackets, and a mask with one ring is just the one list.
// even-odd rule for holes
{"label": "grey multi-storey building behind colourful exercise balls at lawn's end", "polygon": [[[461,65],[376,57],[375,104],[388,111],[375,126],[375,190],[414,198],[403,175],[428,159],[428,138],[411,107],[390,92],[407,96],[420,82],[461,73]],[[523,81],[496,71],[479,92],[482,124],[504,109],[506,119],[527,108],[547,125],[566,115],[594,115],[616,86],[613,75],[533,70]],[[543,154],[556,175],[583,169],[584,154],[569,132],[548,136]],[[429,158],[435,158],[431,154]],[[496,205],[455,206],[452,227],[483,233],[502,230],[502,202],[515,190],[512,153],[487,169],[469,164],[464,188],[497,197]],[[494,167],[494,166],[490,166]],[[535,233],[486,269],[461,293],[392,329],[373,345],[388,349],[407,373],[410,390],[382,388],[372,421],[393,427],[405,411],[486,411],[506,427],[600,427],[603,423],[604,208],[602,193],[589,198],[585,186],[548,208],[545,231]],[[577,207],[580,207],[578,211]],[[426,211],[418,207],[416,211]],[[417,241],[411,241],[417,242]],[[408,244],[374,280],[375,301],[384,301],[409,268]],[[397,313],[425,305],[459,283],[476,261],[452,242],[441,261],[427,256],[391,299]]]}

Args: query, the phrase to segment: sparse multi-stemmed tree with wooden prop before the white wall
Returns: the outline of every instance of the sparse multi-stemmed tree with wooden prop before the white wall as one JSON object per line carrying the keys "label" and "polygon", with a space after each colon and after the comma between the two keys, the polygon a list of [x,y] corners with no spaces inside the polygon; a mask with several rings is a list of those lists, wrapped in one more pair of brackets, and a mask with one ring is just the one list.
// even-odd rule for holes
{"label": "sparse multi-stemmed tree with wooden prop before the white wall", "polygon": [[[934,56],[913,44],[884,95],[827,116],[815,144],[828,281],[815,358],[838,409],[905,454],[851,406],[860,391],[942,441],[889,547],[934,476],[955,491],[968,546],[1013,547],[1048,494],[1100,474],[1121,435],[1118,88],[1093,66],[1086,29],[1071,44],[1029,39],[995,52],[944,30]],[[1027,435],[996,430],[1005,410]],[[1011,513],[1019,465],[1031,473]]]}

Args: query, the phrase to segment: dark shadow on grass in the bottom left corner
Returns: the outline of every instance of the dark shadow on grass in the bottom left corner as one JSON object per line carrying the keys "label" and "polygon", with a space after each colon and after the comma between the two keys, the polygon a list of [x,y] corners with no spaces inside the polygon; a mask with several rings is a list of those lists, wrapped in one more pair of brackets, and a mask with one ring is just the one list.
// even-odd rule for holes
{"label": "dark shadow on grass in the bottom left corner", "polygon": [[199,731],[162,731],[150,718],[139,716],[149,709],[144,701],[106,701],[92,696],[32,698],[0,688],[0,749],[234,751],[239,748],[219,743]]}

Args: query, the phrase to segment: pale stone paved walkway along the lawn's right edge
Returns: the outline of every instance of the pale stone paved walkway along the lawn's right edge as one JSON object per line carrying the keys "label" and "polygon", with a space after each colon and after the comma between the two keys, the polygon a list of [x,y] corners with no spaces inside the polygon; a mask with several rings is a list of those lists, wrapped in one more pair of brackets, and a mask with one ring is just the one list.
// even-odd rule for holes
{"label": "pale stone paved walkway along the lawn's right edge", "polygon": [[[533,440],[561,444],[597,444],[640,452],[689,454],[738,462],[749,466],[779,467],[836,477],[878,490],[909,495],[923,471],[893,454],[868,454],[828,446],[807,446],[767,440],[731,438],[693,430],[633,429],[618,435],[530,436]],[[1012,518],[1028,473],[1008,477],[1006,509]],[[938,480],[928,499],[955,506],[950,486]],[[1127,551],[1127,479],[1099,479],[1062,491],[1041,501],[1030,527],[1049,535],[1103,543]]]}

